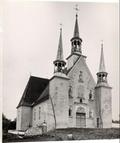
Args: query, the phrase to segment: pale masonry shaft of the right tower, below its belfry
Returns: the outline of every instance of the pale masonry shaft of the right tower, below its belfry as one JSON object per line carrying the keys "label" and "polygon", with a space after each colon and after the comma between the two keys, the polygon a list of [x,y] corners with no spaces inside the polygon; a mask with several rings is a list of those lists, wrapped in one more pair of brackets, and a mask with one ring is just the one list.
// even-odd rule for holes
{"label": "pale masonry shaft of the right tower, below its belfry", "polygon": [[101,125],[103,128],[112,127],[112,105],[111,105],[111,88],[110,87],[97,87],[96,88],[96,106],[97,116],[101,117]]}

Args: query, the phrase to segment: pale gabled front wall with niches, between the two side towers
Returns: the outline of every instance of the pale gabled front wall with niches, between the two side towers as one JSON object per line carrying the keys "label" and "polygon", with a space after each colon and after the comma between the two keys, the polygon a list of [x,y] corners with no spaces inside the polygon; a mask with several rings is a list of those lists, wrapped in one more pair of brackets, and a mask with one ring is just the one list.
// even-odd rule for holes
{"label": "pale gabled front wall with niches, between the two side towers", "polygon": [[[71,60],[73,61],[73,59]],[[79,107],[85,109],[86,127],[95,127],[96,112],[94,100],[94,87],[96,83],[94,82],[94,79],[85,62],[86,60],[83,57],[81,57],[68,74],[70,78],[69,87],[72,87],[73,97],[69,98],[69,108],[72,108],[72,117],[69,117],[69,127],[76,127],[76,111]],[[70,61],[68,61],[68,63],[70,63]],[[80,76],[80,72],[82,72],[82,76]],[[93,99],[91,101],[89,100],[90,90],[92,90],[93,95]],[[83,94],[84,97],[82,103],[80,103],[81,94]],[[89,116],[90,110],[92,111],[92,117]]]}

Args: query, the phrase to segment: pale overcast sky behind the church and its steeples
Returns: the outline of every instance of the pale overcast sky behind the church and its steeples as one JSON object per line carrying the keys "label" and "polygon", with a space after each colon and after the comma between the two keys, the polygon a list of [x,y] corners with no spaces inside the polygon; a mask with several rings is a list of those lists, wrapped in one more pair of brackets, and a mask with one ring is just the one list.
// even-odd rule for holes
{"label": "pale overcast sky behind the church and its steeples", "polygon": [[[70,55],[78,4],[82,53],[97,79],[101,40],[108,82],[112,87],[112,116],[119,117],[119,15],[116,3],[7,1],[3,12],[3,113],[16,117],[16,107],[30,75],[53,76],[60,23],[64,59]],[[1,36],[1,35],[0,35]]]}

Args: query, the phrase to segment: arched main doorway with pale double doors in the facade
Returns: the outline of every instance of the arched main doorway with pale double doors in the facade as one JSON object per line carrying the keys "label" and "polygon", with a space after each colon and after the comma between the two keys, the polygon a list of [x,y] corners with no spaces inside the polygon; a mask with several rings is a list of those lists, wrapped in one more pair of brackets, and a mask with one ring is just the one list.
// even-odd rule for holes
{"label": "arched main doorway with pale double doors in the facade", "polygon": [[82,107],[78,107],[76,111],[76,127],[77,128],[86,127],[86,113],[85,113],[85,109]]}

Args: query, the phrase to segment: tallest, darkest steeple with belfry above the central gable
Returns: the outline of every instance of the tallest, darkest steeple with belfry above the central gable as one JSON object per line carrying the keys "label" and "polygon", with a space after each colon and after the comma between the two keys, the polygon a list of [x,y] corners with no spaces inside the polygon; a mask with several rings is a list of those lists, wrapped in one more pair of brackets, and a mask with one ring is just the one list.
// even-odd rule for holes
{"label": "tallest, darkest steeple with belfry above the central gable", "polygon": [[76,14],[74,33],[73,33],[73,38],[71,39],[71,47],[72,47],[71,54],[74,53],[77,53],[79,55],[82,54],[81,43],[82,39],[80,38],[79,35],[78,14]]}

